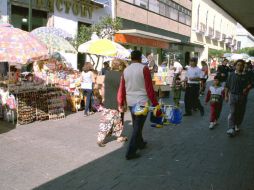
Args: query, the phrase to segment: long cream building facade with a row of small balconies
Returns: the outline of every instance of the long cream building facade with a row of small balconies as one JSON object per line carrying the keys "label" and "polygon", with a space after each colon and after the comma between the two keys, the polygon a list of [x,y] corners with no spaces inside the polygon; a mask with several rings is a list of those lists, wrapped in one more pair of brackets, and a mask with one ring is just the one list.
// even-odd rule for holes
{"label": "long cream building facade with a row of small balconies", "polygon": [[211,0],[193,0],[192,10],[191,42],[203,46],[193,49],[199,61],[208,60],[209,49],[236,50],[236,20]]}

